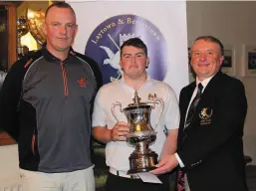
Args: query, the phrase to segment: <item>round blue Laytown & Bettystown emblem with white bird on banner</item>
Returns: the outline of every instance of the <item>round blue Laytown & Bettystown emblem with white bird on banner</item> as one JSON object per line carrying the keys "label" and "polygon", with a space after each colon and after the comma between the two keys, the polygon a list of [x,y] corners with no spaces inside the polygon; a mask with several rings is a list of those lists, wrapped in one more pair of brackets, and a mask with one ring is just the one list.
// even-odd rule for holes
{"label": "round blue Laytown & Bettystown emblem with white bird on banner", "polygon": [[120,80],[121,46],[130,38],[140,38],[147,46],[150,65],[147,73],[162,81],[167,72],[167,47],[160,31],[148,20],[136,15],[118,15],[101,23],[91,34],[85,55],[94,59],[104,84]]}

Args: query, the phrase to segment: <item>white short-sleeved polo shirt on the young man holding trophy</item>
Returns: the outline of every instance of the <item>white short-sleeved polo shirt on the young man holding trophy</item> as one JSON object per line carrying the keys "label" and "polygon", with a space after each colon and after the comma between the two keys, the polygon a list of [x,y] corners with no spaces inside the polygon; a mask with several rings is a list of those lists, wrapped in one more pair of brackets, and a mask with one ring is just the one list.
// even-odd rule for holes
{"label": "white short-sleeved polo shirt on the young man holding trophy", "polygon": [[[124,79],[103,86],[95,99],[93,126],[113,128],[117,122],[111,111],[113,103],[121,102],[124,109],[133,102],[134,92],[134,89],[129,87]],[[137,95],[141,98],[141,102],[145,102],[150,100],[149,95],[154,94],[156,97],[162,98],[164,102],[164,109],[156,128],[155,123],[160,114],[160,105],[156,104],[150,114],[151,126],[156,131],[156,140],[150,148],[159,157],[166,139],[164,131],[178,128],[179,108],[174,91],[167,84],[152,80],[147,76],[146,83],[137,91]],[[120,111],[119,106],[116,106],[115,112],[119,121],[128,121],[125,113]],[[117,170],[128,171],[128,157],[133,151],[134,147],[129,146],[126,141],[109,142],[106,146],[106,163]]]}

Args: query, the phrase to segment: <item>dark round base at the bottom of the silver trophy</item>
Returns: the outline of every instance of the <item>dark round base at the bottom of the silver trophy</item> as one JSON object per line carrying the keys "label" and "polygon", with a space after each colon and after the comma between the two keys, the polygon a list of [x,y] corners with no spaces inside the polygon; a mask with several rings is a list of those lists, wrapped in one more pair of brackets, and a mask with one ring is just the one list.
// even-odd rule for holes
{"label": "dark round base at the bottom of the silver trophy", "polygon": [[157,154],[154,151],[149,151],[146,154],[140,154],[133,152],[128,157],[129,167],[128,174],[134,174],[139,172],[149,172],[155,169],[157,164]]}

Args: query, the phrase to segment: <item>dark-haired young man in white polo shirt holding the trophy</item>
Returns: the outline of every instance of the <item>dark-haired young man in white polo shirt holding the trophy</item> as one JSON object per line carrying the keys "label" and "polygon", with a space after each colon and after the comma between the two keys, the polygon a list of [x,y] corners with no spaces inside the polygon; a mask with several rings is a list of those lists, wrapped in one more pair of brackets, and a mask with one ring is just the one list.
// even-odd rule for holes
{"label": "dark-haired young man in white polo shirt holding the trophy", "polygon": [[160,113],[160,105],[156,105],[150,114],[150,123],[156,131],[156,140],[150,148],[158,154],[158,160],[173,154],[176,150],[177,131],[179,123],[179,109],[173,90],[166,84],[150,79],[145,69],[149,65],[147,49],[138,38],[129,39],[121,47],[121,68],[124,72],[123,79],[105,85],[95,99],[93,113],[93,135],[104,143],[106,147],[107,165],[110,173],[107,180],[107,191],[168,191],[168,174],[158,178],[162,184],[142,182],[136,175],[127,175],[129,169],[128,157],[134,150],[128,146],[127,117],[123,112],[116,110],[119,122],[112,114],[113,103],[120,101],[123,107],[132,102],[136,91],[141,101],[159,97],[164,101],[164,109],[159,123],[155,128],[156,120]]}

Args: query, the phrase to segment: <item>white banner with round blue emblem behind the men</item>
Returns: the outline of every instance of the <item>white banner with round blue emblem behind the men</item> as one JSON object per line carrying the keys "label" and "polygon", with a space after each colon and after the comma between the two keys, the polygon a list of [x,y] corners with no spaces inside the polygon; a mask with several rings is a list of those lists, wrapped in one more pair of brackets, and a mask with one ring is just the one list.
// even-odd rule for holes
{"label": "white banner with round blue emblem behind the men", "polygon": [[131,37],[147,46],[151,78],[170,85],[179,95],[188,84],[185,1],[67,1],[79,31],[74,49],[94,59],[104,82],[121,78],[120,47]]}

